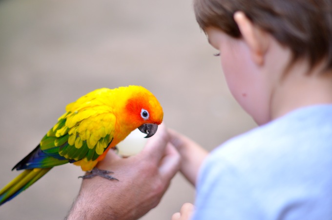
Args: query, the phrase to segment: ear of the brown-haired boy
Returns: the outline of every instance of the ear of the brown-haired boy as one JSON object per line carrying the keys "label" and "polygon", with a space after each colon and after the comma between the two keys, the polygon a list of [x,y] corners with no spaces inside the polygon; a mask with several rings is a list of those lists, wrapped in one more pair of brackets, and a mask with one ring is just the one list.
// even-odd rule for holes
{"label": "ear of the brown-haired boy", "polygon": [[234,13],[243,39],[248,44],[253,61],[258,65],[264,64],[264,56],[269,47],[268,35],[265,31],[255,26],[242,11]]}

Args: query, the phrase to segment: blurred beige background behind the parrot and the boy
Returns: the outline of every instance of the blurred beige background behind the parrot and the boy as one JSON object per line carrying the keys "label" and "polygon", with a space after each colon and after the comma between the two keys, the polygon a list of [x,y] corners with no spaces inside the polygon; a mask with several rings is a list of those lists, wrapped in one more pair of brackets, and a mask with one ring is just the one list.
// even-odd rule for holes
{"label": "blurred beige background behind the parrot and the boy", "polygon": [[[213,53],[191,0],[0,1],[0,187],[65,105],[96,88],[148,88],[166,125],[208,150],[254,127]],[[63,219],[82,174],[69,164],[54,168],[1,206],[0,219]],[[178,174],[142,220],[169,220],[194,196]]]}

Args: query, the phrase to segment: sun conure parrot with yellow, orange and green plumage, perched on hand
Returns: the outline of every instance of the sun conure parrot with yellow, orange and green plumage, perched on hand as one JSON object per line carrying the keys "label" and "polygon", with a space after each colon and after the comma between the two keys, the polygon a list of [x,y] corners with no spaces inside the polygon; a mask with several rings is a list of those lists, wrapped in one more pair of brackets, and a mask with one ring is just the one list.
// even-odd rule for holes
{"label": "sun conure parrot with yellow, orange and green plumage, perched on hand", "polygon": [[152,136],[163,120],[163,109],[156,97],[141,86],[96,89],[66,106],[58,123],[40,144],[18,164],[24,170],[0,191],[0,205],[27,189],[52,167],[65,163],[81,166],[109,179],[107,171],[96,168],[111,148],[138,128]]}

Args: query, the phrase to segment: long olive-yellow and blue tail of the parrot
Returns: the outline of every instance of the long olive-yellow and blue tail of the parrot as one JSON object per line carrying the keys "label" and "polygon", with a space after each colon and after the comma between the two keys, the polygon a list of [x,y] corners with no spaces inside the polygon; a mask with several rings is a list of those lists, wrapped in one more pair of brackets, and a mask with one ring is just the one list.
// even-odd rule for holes
{"label": "long olive-yellow and blue tail of the parrot", "polygon": [[0,205],[19,195],[51,169],[52,167],[24,170],[0,190]]}

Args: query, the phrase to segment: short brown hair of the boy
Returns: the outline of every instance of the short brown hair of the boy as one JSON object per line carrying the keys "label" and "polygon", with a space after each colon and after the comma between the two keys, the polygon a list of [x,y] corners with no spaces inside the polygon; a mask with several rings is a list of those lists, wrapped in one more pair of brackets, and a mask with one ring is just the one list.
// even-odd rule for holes
{"label": "short brown hair of the boy", "polygon": [[331,0],[194,0],[196,20],[241,38],[233,19],[243,11],[254,25],[270,33],[280,44],[290,47],[293,60],[308,59],[311,67],[326,61],[332,69]]}

